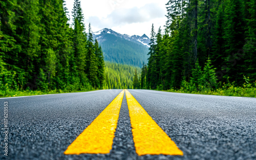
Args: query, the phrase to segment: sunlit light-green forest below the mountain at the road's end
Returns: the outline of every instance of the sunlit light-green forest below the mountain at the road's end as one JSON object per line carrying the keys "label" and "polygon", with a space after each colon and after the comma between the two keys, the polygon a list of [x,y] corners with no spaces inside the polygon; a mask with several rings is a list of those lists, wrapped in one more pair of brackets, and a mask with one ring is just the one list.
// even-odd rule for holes
{"label": "sunlit light-green forest below the mountain at the road's end", "polygon": [[[137,73],[139,67],[105,62],[105,89],[133,89],[134,75],[137,80],[140,74]],[[136,88],[136,87],[135,87]]]}

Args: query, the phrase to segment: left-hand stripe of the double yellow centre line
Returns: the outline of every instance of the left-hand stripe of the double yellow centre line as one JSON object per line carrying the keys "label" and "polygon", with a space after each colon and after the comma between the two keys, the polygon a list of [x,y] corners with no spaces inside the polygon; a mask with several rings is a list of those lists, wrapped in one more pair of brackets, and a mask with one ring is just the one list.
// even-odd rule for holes
{"label": "left-hand stripe of the double yellow centre line", "polygon": [[75,139],[64,154],[109,153],[112,149],[124,90]]}

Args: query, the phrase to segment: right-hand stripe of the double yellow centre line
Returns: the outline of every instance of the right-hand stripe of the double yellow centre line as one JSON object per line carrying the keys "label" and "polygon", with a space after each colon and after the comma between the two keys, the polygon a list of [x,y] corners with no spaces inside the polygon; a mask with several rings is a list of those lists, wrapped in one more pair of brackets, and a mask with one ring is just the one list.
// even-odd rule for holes
{"label": "right-hand stripe of the double yellow centre line", "polygon": [[125,90],[132,124],[136,153],[183,155],[183,152],[142,108],[132,94]]}

